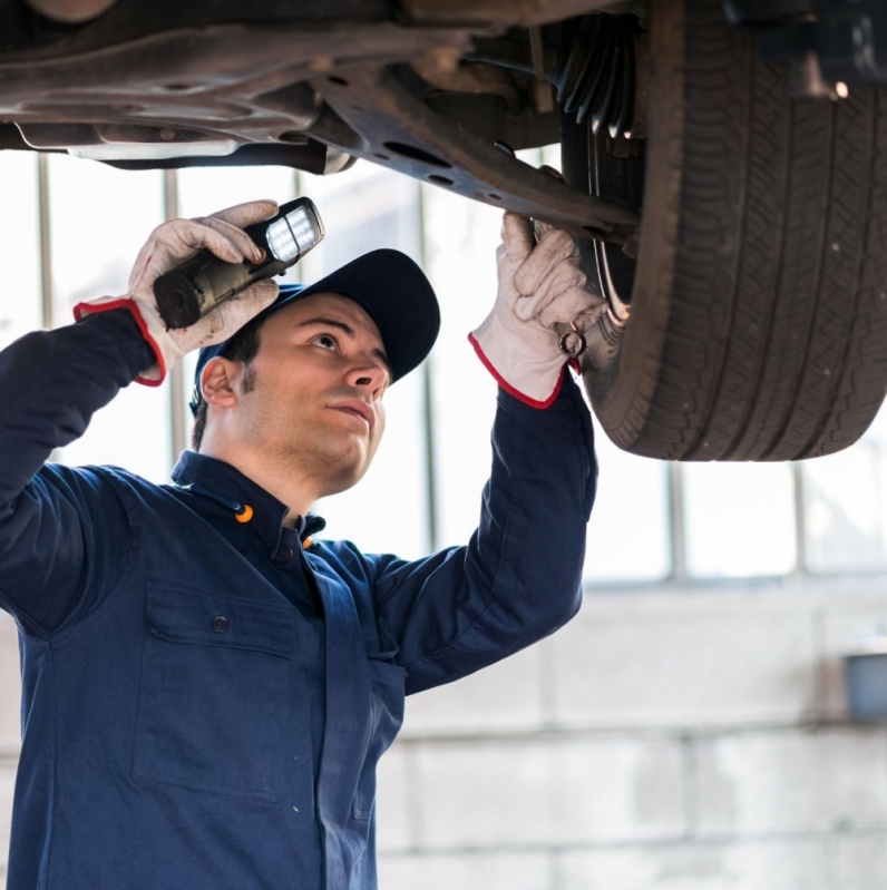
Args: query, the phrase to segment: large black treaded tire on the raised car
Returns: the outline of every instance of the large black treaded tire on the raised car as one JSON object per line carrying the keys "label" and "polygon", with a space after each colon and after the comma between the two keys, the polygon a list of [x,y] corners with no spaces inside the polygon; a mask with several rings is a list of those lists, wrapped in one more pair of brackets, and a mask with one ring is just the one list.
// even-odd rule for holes
{"label": "large black treaded tire on the raised car", "polygon": [[[653,458],[839,451],[887,385],[887,91],[792,99],[720,0],[653,0],[649,37],[631,317],[610,366],[584,368],[594,411]],[[602,146],[565,125],[571,185]]]}

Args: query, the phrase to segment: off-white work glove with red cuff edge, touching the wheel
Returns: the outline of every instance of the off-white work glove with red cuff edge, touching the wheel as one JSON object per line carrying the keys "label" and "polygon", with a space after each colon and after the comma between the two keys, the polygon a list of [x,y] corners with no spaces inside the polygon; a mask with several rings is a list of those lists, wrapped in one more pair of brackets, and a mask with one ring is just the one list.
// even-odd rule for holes
{"label": "off-white work glove with red cuff edge, touching the wheel", "polygon": [[537,223],[536,233],[538,243],[529,219],[505,214],[496,303],[468,339],[504,390],[533,408],[548,408],[569,358],[562,336],[584,335],[606,311],[606,301],[588,287],[578,247],[566,232]]}

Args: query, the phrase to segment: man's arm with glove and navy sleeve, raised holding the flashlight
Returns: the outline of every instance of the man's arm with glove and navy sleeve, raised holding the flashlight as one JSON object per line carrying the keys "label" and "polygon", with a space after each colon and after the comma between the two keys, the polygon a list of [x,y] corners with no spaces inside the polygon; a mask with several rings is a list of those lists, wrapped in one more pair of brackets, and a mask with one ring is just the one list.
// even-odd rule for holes
{"label": "man's arm with glove and navy sleeve, raised holding the flashlight", "polygon": [[26,633],[47,636],[95,608],[119,574],[129,537],[101,471],[45,461],[82,436],[121,387],[160,383],[181,355],[224,340],[274,300],[276,285],[263,282],[169,332],[153,282],[202,247],[240,262],[256,251],[240,226],[275,212],[273,202],[254,202],[159,226],[125,296],[81,304],[78,324],[28,334],[0,352],[0,607]]}

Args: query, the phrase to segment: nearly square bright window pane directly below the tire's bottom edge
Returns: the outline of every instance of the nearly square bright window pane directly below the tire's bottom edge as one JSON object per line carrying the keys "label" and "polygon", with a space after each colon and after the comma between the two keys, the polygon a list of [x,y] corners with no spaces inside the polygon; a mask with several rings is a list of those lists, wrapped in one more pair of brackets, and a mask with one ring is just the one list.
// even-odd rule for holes
{"label": "nearly square bright window pane directly below the tire's bottom edge", "polygon": [[795,497],[788,463],[684,463],[691,575],[747,578],[795,568]]}

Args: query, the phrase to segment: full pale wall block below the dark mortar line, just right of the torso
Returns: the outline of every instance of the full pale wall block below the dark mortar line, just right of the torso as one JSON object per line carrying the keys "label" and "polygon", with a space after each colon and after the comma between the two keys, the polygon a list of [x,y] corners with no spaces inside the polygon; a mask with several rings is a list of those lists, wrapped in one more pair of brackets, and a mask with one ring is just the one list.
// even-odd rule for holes
{"label": "full pale wall block below the dark mortar line, just right of the torso", "polygon": [[685,830],[678,743],[428,743],[416,756],[423,849],[662,839]]}

